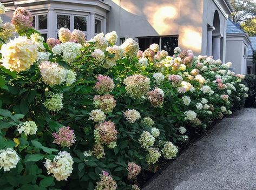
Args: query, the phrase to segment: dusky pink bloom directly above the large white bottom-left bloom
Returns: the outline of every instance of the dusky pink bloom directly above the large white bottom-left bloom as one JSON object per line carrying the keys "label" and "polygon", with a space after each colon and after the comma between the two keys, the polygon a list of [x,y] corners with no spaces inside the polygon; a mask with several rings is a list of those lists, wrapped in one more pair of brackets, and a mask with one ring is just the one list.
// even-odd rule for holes
{"label": "dusky pink bloom directly above the large white bottom-left bloom", "polygon": [[70,130],[70,127],[61,127],[58,132],[52,133],[55,138],[54,143],[61,145],[61,147],[70,147],[75,143],[74,130]]}

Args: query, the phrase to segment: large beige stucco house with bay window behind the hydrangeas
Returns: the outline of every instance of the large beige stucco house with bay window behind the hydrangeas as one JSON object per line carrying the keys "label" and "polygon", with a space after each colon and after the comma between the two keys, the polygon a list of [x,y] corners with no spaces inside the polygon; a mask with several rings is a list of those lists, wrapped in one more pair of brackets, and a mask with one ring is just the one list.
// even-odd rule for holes
{"label": "large beige stucco house with bay window behind the hydrangeas", "polygon": [[145,50],[160,44],[171,55],[176,46],[225,62],[229,0],[2,0],[10,21],[18,6],[30,10],[35,29],[57,38],[61,27],[79,29],[92,38],[115,30],[120,42],[133,37]]}

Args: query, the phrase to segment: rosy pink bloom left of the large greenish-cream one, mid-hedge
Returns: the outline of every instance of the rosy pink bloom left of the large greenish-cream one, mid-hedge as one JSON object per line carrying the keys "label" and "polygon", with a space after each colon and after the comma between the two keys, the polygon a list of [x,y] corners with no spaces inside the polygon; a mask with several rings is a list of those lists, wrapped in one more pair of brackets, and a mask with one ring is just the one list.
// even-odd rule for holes
{"label": "rosy pink bloom left of the large greenish-cream one, mid-hedge", "polygon": [[110,93],[114,89],[115,85],[113,79],[110,77],[99,74],[99,76],[97,76],[97,80],[98,82],[95,83],[96,92],[104,94]]}

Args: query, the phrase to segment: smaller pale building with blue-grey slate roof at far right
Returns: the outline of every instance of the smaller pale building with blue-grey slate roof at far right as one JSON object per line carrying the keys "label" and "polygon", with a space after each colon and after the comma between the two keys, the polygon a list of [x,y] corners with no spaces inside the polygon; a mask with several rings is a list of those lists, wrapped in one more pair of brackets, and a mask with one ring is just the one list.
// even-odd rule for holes
{"label": "smaller pale building with blue-grey slate roof at far right", "polygon": [[[232,62],[232,69],[235,73],[246,74],[248,52],[251,50],[251,39],[247,33],[241,29],[240,24],[227,21],[227,42],[226,42],[226,62]],[[252,53],[251,53],[252,55]],[[255,68],[251,66],[252,71]],[[254,70],[253,70],[254,69]]]}

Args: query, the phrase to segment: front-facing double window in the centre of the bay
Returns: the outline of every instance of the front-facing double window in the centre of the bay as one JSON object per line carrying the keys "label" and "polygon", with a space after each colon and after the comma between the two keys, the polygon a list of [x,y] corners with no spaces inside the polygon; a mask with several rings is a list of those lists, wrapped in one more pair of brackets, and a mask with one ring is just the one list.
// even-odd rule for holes
{"label": "front-facing double window in the centre of the bay", "polygon": [[57,27],[56,27],[56,36],[58,37],[58,30],[62,27],[73,30],[81,30],[88,37],[88,16],[83,15],[73,15],[73,14],[64,14],[57,13]]}

